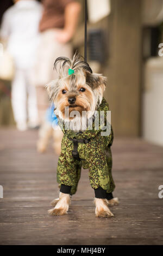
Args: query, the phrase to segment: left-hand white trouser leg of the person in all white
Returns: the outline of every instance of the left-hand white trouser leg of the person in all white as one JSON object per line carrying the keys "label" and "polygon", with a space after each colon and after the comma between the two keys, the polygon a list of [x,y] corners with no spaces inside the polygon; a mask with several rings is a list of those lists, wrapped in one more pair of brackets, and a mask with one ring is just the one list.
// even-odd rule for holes
{"label": "left-hand white trouser leg of the person in all white", "polygon": [[19,130],[27,129],[26,78],[23,70],[16,70],[11,87],[11,103],[16,126]]}

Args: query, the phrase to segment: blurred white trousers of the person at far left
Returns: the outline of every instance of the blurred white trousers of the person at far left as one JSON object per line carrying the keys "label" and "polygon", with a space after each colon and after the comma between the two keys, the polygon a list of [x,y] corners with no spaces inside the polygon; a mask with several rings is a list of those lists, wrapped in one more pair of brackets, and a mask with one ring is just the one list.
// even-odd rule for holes
{"label": "blurred white trousers of the person at far left", "polygon": [[31,82],[32,69],[16,69],[12,81],[11,102],[16,123],[28,122],[36,125],[38,111],[35,87]]}

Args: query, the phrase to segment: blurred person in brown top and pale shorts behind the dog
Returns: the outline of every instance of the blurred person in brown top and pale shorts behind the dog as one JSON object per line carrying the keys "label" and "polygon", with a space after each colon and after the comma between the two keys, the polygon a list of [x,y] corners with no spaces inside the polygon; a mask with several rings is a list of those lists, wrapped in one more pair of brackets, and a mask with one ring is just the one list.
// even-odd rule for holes
{"label": "blurred person in brown top and pale shorts behind the dog", "polygon": [[[61,130],[52,132],[52,124],[46,121],[45,113],[49,101],[45,85],[58,77],[57,72],[53,70],[55,59],[60,56],[72,56],[71,39],[76,31],[81,8],[80,4],[74,0],[43,0],[42,4],[44,10],[39,26],[41,40],[35,66],[35,85],[41,123],[37,142],[39,152],[46,150],[47,141],[52,133],[54,140],[59,138],[58,140],[61,141],[62,138]],[[59,153],[59,150],[55,152]]]}

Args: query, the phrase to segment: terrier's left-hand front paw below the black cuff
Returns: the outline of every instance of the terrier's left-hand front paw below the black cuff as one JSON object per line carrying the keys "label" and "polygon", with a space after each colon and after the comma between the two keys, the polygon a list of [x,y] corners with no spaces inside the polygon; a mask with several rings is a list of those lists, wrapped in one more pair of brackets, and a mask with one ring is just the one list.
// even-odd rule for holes
{"label": "terrier's left-hand front paw below the black cuff", "polygon": [[65,215],[67,214],[68,208],[70,205],[70,194],[59,193],[59,200],[55,204],[55,207],[51,210],[48,210],[50,215]]}

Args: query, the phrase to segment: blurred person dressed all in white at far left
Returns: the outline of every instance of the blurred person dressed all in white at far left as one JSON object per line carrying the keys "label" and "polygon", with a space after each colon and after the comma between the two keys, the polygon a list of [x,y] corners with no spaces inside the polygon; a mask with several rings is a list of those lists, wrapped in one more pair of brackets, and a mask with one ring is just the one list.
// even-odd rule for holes
{"label": "blurred person dressed all in white at far left", "polygon": [[15,0],[14,3],[3,15],[1,39],[7,41],[7,49],[15,65],[11,103],[16,126],[19,130],[26,130],[28,126],[34,128],[38,124],[32,80],[42,5],[35,0]]}

